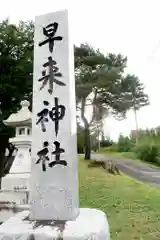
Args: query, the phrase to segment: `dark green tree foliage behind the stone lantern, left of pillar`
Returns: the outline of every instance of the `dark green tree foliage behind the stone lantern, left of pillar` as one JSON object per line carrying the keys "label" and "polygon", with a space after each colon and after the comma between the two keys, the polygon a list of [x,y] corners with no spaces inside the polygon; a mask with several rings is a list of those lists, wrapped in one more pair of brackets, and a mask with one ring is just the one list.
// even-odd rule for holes
{"label": "dark green tree foliage behind the stone lantern, left of pillar", "polygon": [[8,138],[13,134],[3,120],[18,110],[21,100],[31,100],[33,32],[32,22],[0,23],[0,177],[4,175],[5,149],[12,149]]}

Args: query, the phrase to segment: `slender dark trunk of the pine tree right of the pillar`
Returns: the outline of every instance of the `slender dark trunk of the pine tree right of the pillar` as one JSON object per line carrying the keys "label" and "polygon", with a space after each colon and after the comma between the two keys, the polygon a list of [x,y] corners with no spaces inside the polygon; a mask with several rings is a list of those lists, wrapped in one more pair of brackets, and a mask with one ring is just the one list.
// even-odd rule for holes
{"label": "slender dark trunk of the pine tree right of the pillar", "polygon": [[81,118],[84,122],[84,159],[91,159],[91,141],[89,123],[84,115],[86,99],[82,98]]}

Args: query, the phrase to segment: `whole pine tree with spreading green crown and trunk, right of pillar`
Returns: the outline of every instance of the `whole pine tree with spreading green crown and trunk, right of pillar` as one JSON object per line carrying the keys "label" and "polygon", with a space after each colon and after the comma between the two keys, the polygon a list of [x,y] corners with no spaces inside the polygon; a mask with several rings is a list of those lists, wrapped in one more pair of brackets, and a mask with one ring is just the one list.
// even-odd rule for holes
{"label": "whole pine tree with spreading green crown and trunk, right of pillar", "polygon": [[[127,58],[121,54],[105,56],[88,44],[82,44],[75,48],[75,59],[77,102],[85,126],[85,158],[90,159],[89,127],[96,119],[96,110],[105,106],[107,114],[124,118],[127,110],[147,105],[148,96],[138,77],[124,77]],[[85,117],[88,102],[93,106],[90,122]]]}

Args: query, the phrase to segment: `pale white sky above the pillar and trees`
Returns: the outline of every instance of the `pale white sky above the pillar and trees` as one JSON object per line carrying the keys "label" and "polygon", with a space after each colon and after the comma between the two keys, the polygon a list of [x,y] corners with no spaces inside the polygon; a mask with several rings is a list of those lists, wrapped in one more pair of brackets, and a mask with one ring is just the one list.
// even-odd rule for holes
{"label": "pale white sky above the pillar and trees", "polygon": [[[160,125],[160,1],[159,0],[5,0],[0,19],[34,20],[36,15],[68,8],[72,16],[74,42],[88,42],[104,53],[128,57],[126,73],[139,76],[146,86],[150,106],[138,112],[139,127]],[[105,121],[105,132],[116,139],[135,129],[134,115],[124,121]]]}

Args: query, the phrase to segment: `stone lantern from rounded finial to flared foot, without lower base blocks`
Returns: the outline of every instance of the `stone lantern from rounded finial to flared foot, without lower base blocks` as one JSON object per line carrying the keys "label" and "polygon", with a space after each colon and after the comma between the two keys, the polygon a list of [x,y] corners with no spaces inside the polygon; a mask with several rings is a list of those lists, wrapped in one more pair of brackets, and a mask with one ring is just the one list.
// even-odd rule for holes
{"label": "stone lantern from rounded finial to flared foot, without lower base blocks", "polygon": [[15,128],[15,137],[9,141],[17,151],[9,174],[2,179],[2,189],[29,189],[32,114],[28,107],[29,102],[22,101],[19,112],[11,114],[4,121],[5,125]]}

